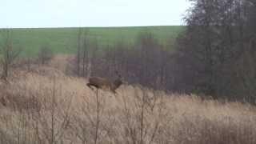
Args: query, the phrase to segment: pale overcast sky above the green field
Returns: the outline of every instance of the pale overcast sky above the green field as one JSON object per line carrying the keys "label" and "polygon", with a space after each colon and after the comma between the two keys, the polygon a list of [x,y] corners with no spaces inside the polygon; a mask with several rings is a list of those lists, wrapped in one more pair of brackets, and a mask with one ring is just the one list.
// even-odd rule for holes
{"label": "pale overcast sky above the green field", "polygon": [[182,25],[186,0],[1,0],[0,27]]}

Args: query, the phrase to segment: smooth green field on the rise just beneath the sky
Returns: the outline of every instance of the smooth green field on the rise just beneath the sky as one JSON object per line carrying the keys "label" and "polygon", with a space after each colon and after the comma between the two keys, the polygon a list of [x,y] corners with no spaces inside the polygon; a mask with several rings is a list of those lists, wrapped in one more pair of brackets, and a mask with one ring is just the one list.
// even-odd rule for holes
{"label": "smooth green field on the rise just beneath the sky", "polygon": [[[90,40],[97,39],[98,46],[113,45],[120,41],[127,46],[134,44],[141,31],[150,31],[159,42],[167,45],[174,41],[184,26],[145,26],[145,27],[94,27],[82,28]],[[21,47],[23,54],[33,56],[42,46],[49,46],[54,53],[74,54],[78,42],[78,28],[30,28],[13,29],[15,47]],[[90,41],[89,40],[89,41]]]}

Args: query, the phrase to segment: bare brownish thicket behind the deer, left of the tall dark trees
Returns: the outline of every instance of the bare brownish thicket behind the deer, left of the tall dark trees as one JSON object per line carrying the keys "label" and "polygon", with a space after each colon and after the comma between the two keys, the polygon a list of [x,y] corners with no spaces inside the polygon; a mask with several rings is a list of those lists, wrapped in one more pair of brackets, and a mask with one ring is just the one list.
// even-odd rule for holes
{"label": "bare brownish thicket behind the deer, left of the tall dark trees", "polygon": [[162,46],[153,33],[141,32],[134,45],[127,45],[121,38],[114,46],[101,48],[97,40],[89,41],[88,37],[88,31],[79,30],[78,53],[73,68],[76,74],[113,79],[118,71],[131,84],[167,90],[170,50]]}

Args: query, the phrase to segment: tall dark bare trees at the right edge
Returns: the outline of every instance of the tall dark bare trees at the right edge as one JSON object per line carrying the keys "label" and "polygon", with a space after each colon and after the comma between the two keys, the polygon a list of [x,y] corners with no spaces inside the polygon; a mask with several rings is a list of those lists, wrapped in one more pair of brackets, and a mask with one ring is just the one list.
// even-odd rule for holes
{"label": "tall dark bare trees at the right edge", "polygon": [[191,2],[174,54],[177,91],[255,104],[255,1]]}

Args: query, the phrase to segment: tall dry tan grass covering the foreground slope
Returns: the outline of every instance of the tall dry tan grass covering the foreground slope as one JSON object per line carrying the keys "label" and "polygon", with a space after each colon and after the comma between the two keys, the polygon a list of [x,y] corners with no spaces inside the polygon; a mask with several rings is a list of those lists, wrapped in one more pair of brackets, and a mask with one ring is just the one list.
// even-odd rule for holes
{"label": "tall dry tan grass covering the foreground slope", "polygon": [[96,95],[51,67],[19,71],[0,90],[0,143],[256,143],[255,107],[239,102],[140,86]]}

